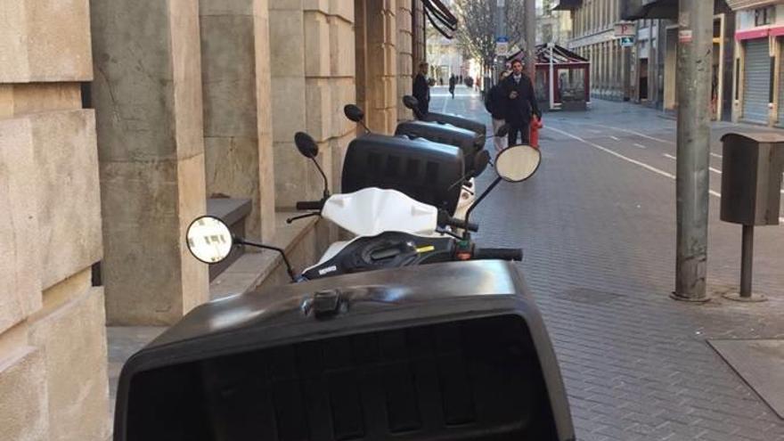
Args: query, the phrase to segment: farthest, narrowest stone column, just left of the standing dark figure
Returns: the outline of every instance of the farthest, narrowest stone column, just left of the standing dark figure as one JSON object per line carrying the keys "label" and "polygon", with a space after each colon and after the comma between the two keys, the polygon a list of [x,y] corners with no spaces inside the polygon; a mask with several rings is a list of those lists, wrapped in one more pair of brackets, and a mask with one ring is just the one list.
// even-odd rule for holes
{"label": "farthest, narrowest stone column, just left of the standing dark figure", "polygon": [[412,111],[405,108],[403,96],[412,94],[413,72],[413,14],[412,3],[407,0],[397,2],[397,120],[413,118]]}

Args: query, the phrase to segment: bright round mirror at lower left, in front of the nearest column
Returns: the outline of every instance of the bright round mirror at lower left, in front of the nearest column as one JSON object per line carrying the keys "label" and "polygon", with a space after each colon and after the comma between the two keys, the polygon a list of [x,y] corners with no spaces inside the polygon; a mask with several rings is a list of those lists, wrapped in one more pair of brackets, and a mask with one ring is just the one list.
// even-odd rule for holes
{"label": "bright round mirror at lower left, in front of the nearest column", "polygon": [[232,233],[215,216],[201,216],[191,223],[187,233],[188,249],[205,264],[216,264],[232,252]]}

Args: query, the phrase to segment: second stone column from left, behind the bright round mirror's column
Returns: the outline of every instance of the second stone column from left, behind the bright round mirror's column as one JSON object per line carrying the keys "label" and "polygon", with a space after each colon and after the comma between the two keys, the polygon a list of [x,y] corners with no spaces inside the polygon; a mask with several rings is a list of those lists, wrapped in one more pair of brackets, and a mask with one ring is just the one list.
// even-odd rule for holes
{"label": "second stone column from left, behind the bright round mirror's column", "polygon": [[275,231],[267,0],[200,0],[207,195],[249,198],[245,233]]}

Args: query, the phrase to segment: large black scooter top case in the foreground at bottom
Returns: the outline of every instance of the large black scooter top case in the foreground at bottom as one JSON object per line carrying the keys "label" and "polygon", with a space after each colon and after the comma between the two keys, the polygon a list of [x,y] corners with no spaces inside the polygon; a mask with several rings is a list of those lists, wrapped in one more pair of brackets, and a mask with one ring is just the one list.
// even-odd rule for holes
{"label": "large black scooter top case in the foreground at bottom", "polygon": [[114,441],[574,440],[507,262],[407,266],[198,306],[123,366]]}

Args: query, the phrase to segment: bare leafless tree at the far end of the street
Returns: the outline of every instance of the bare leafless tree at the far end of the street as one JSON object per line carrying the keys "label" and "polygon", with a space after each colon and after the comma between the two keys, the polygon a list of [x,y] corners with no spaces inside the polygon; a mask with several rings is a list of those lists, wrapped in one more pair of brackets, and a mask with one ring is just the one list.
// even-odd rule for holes
{"label": "bare leafless tree at the far end of the street", "polygon": [[[510,47],[525,45],[524,1],[507,0],[505,7],[506,34]],[[460,19],[456,36],[471,58],[482,61],[485,68],[495,59],[495,14],[497,0],[455,0],[455,10]]]}

